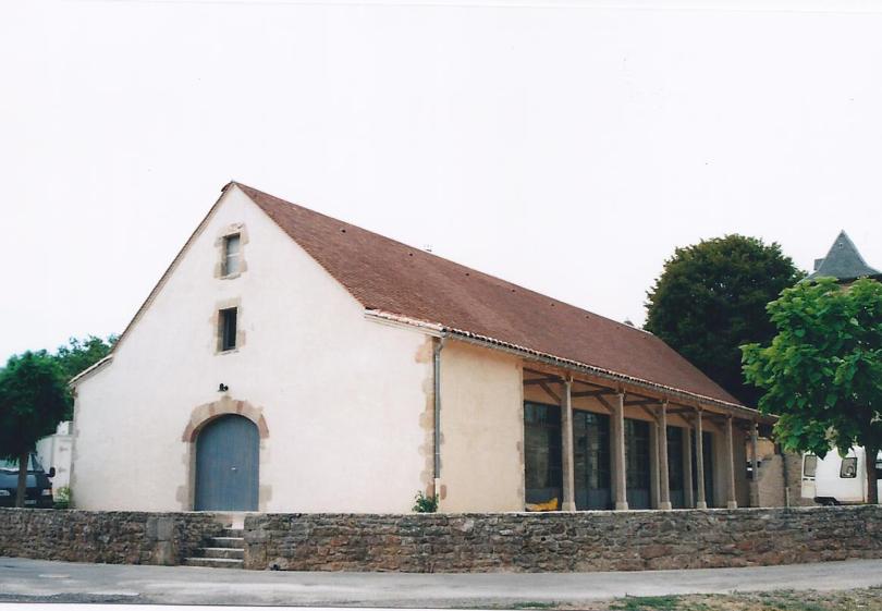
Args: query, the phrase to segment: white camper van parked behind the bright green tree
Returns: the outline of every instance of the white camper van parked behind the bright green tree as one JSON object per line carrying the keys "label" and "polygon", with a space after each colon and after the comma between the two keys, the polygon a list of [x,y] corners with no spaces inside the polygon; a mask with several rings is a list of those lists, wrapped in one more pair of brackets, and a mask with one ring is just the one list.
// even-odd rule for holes
{"label": "white camper van parked behind the bright green tree", "polygon": [[[882,475],[882,452],[875,459]],[[882,479],[882,478],[880,478]],[[845,457],[832,449],[826,456],[803,455],[803,498],[822,505],[867,502],[867,457],[863,448],[852,448]]]}

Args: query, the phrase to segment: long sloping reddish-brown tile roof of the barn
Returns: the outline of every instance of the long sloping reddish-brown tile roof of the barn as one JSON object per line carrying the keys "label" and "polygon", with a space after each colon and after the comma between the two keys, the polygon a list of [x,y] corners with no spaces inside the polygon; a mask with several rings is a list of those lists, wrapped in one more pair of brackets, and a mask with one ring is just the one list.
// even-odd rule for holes
{"label": "long sloping reddish-brown tile roof of the barn", "polygon": [[739,403],[651,333],[236,184],[367,309]]}

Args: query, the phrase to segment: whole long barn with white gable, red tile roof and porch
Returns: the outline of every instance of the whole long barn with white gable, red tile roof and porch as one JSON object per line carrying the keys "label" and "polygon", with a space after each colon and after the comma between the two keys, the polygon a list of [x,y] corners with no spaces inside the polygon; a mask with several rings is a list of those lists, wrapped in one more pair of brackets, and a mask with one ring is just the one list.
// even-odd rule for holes
{"label": "whole long barn with white gable, red tile roof and porch", "polygon": [[238,183],[73,384],[97,510],[734,508],[764,421],[648,332]]}

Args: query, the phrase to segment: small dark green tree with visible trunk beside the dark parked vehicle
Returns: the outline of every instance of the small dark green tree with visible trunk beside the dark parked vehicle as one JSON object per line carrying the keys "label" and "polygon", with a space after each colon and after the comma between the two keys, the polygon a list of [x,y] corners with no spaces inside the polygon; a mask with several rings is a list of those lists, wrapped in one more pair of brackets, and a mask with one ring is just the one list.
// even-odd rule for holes
{"label": "small dark green tree with visible trunk beside the dark parked vehicle", "polygon": [[12,356],[0,370],[0,457],[19,462],[15,506],[24,506],[29,453],[69,406],[64,375],[45,351]]}

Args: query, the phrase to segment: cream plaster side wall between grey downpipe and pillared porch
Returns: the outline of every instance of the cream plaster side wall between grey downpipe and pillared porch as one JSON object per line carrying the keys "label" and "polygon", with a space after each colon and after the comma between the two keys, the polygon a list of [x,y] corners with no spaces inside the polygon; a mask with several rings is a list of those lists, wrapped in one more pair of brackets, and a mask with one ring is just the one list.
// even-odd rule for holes
{"label": "cream plaster side wall between grey downpipe and pillared porch", "polygon": [[441,352],[440,510],[524,511],[517,358],[450,341]]}

